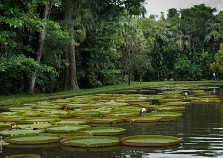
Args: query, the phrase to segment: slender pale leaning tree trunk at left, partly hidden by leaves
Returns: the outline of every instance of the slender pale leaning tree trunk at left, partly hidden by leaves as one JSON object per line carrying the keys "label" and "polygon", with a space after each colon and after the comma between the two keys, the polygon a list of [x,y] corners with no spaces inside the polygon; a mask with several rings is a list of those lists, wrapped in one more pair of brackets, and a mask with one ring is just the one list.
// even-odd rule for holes
{"label": "slender pale leaning tree trunk at left, partly hidden by leaves", "polygon": [[[52,3],[49,2],[49,4],[47,4],[45,6],[44,11],[43,11],[43,19],[44,20],[49,19],[51,8],[52,8]],[[42,31],[39,34],[39,43],[38,43],[38,47],[37,47],[37,57],[36,57],[36,61],[38,63],[40,63],[41,58],[42,58],[45,37],[46,37],[46,25],[43,26],[43,29],[42,29]],[[37,70],[35,71],[35,74],[36,73],[37,73]],[[34,92],[35,83],[36,83],[36,76],[33,76],[32,79],[31,79],[29,93],[33,93]]]}

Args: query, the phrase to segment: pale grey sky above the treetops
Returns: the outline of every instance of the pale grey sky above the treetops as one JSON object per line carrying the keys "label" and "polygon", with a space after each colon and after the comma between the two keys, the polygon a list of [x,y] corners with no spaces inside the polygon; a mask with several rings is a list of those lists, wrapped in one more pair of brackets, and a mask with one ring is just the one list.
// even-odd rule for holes
{"label": "pale grey sky above the treetops", "polygon": [[170,8],[177,8],[178,10],[184,8],[191,8],[194,5],[205,4],[206,6],[216,8],[218,11],[223,10],[223,0],[146,0],[145,7],[147,15],[156,14],[160,16],[160,12],[167,14]]}

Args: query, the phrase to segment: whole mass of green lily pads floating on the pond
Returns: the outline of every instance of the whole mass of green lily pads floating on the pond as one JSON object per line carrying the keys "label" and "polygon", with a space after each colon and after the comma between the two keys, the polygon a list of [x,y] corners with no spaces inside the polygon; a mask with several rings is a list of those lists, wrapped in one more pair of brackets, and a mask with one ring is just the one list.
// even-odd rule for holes
{"label": "whole mass of green lily pads floating on the pond", "polygon": [[92,94],[25,104],[0,113],[0,135],[5,145],[55,142],[76,147],[176,145],[179,138],[146,133],[120,139],[115,136],[125,134],[126,130],[112,125],[176,119],[189,104],[220,102],[217,95],[192,87],[174,86],[156,95],[145,94],[149,90],[143,89],[131,90],[132,94]]}

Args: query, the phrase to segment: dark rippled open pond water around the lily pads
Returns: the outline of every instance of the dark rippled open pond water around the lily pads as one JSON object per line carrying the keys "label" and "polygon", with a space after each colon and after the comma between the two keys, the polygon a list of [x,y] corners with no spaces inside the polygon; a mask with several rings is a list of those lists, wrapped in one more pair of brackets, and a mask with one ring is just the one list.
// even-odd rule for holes
{"label": "dark rippled open pond water around the lily pads", "polygon": [[[153,91],[154,92],[154,91]],[[223,88],[214,93],[223,99]],[[144,91],[145,93],[145,91]],[[181,138],[180,145],[168,147],[130,147],[118,145],[102,148],[65,147],[60,144],[36,146],[3,146],[0,157],[17,154],[39,154],[42,158],[191,158],[223,157],[223,106],[218,104],[187,105],[182,117],[158,123],[120,123],[124,136],[168,135]],[[124,137],[123,135],[119,137]]]}

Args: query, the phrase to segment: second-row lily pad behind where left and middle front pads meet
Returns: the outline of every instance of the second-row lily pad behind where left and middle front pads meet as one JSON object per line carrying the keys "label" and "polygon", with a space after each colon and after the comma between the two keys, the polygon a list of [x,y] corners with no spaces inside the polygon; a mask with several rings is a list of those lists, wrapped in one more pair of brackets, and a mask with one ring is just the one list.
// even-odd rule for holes
{"label": "second-row lily pad behind where left and middle front pads meet", "polygon": [[47,132],[52,133],[70,133],[70,132],[76,132],[77,130],[80,130],[82,128],[89,128],[88,125],[56,125],[46,128]]}

